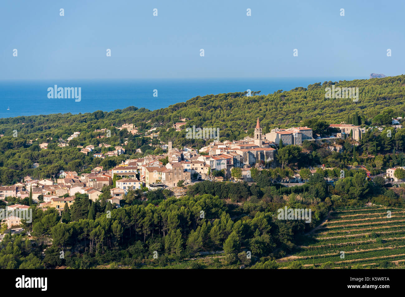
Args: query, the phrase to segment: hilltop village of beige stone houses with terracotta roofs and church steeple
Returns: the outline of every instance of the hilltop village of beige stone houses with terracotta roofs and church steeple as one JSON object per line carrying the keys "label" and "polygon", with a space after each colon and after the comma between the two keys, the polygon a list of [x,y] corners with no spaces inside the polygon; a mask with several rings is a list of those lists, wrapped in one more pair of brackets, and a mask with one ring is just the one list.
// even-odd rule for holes
{"label": "hilltop village of beige stone houses with terracotta roofs and church steeple", "polygon": [[[187,119],[173,123],[173,128],[181,131],[185,128]],[[398,123],[396,123],[398,124]],[[111,169],[96,166],[90,173],[77,173],[76,171],[60,171],[55,178],[35,179],[30,176],[24,177],[14,185],[0,186],[0,200],[7,197],[16,197],[21,200],[31,196],[32,202],[38,207],[46,209],[54,207],[63,211],[65,203],[70,206],[75,201],[75,194],[87,194],[92,201],[99,199],[103,192],[107,191],[107,200],[113,205],[119,205],[124,199],[128,190],[156,190],[171,189],[178,186],[203,180],[253,182],[252,167],[263,168],[275,167],[277,165],[277,149],[285,145],[302,145],[305,141],[333,141],[353,137],[359,141],[364,129],[353,124],[331,124],[335,129],[332,135],[321,138],[320,135],[313,136],[313,130],[306,126],[292,128],[274,128],[268,133],[263,133],[260,120],[257,118],[253,137],[245,137],[239,141],[213,141],[199,150],[192,147],[173,147],[172,141],[162,143],[160,147],[163,154],[150,154],[143,158],[126,159]],[[126,129],[132,135],[138,134],[138,129],[132,124],[123,124],[118,130]],[[336,130],[337,129],[337,130]],[[107,133],[97,138],[108,137],[108,129],[98,129],[94,132]],[[147,131],[151,139],[158,139],[156,129]],[[4,136],[4,135],[0,135]],[[63,141],[59,139],[59,147],[69,146],[70,141],[80,136],[75,132]],[[77,149],[86,156],[100,158],[100,160],[126,154],[126,144],[112,147],[109,144],[99,143],[94,145],[77,145]],[[46,150],[49,143],[40,143],[41,150]],[[109,149],[101,152],[102,149]],[[140,149],[137,152],[141,152]],[[34,163],[34,167],[40,166]],[[238,170],[234,171],[234,168]],[[240,169],[240,170],[239,170]],[[311,168],[312,173],[315,172]],[[234,174],[233,174],[234,173]],[[390,170],[390,177],[393,171]],[[299,183],[303,178],[298,172],[281,176],[279,182]],[[13,208],[16,205],[9,207]],[[19,223],[19,222],[15,222]]]}

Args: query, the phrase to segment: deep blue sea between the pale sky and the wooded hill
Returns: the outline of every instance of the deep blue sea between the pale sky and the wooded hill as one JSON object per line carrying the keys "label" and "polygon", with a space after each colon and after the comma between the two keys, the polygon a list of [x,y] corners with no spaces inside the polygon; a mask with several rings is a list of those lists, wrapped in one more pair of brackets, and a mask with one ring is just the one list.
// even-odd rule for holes
{"label": "deep blue sea between the pale sky and the wooded hill", "polygon": [[[277,90],[324,81],[367,79],[368,77],[323,78],[190,78],[138,80],[1,80],[0,118],[58,113],[112,111],[128,106],[156,110],[185,102],[196,96],[243,92],[247,89],[267,95]],[[48,88],[81,88],[81,100],[49,99]],[[157,97],[153,97],[157,90]],[[155,91],[156,95],[156,91]]]}

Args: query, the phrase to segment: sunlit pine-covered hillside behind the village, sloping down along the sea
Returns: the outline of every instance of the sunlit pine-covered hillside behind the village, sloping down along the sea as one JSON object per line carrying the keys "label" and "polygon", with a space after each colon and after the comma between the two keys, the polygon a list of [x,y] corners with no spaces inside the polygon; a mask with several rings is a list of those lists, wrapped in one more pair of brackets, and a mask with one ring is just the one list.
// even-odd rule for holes
{"label": "sunlit pine-covered hillside behind the village, sloping down along the sea", "polygon": [[[358,111],[364,123],[373,123],[375,116],[388,108],[394,115],[405,111],[405,75],[369,80],[319,82],[307,88],[290,91],[279,90],[269,95],[245,96],[245,93],[228,93],[197,96],[185,103],[177,103],[160,110],[127,107],[113,112],[97,111],[85,114],[51,114],[47,116],[19,116],[0,119],[0,132],[12,135],[13,129],[26,135],[47,132],[47,135],[70,135],[77,129],[108,128],[133,123],[145,129],[152,126],[172,126],[179,118],[189,118],[188,124],[197,127],[211,126],[221,129],[221,137],[241,137],[243,129],[254,128],[255,118],[262,126],[290,127],[307,118],[320,118],[337,123]],[[325,88],[358,87],[359,101],[352,99],[326,99]],[[113,101],[111,102],[113,104]],[[149,121],[150,122],[147,122]],[[376,119],[377,120],[377,119]],[[23,124],[24,123],[24,124]]]}

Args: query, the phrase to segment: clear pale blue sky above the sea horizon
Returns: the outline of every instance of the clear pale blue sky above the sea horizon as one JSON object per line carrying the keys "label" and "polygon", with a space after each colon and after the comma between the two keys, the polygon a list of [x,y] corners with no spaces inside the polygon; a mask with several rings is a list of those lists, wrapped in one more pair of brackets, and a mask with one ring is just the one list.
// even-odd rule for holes
{"label": "clear pale blue sky above the sea horizon", "polygon": [[0,79],[399,75],[404,3],[2,0]]}

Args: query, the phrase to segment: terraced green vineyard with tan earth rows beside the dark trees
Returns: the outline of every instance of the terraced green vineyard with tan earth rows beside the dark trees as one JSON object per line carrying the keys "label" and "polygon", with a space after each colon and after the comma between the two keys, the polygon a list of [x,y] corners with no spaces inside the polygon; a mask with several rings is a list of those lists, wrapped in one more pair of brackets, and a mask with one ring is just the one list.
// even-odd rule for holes
{"label": "terraced green vineyard with tan earth rows beside the dark trees", "polygon": [[[390,217],[387,211],[391,211]],[[277,262],[280,268],[293,262],[314,268],[354,265],[405,268],[405,209],[379,206],[336,209],[305,236],[296,253]]]}

